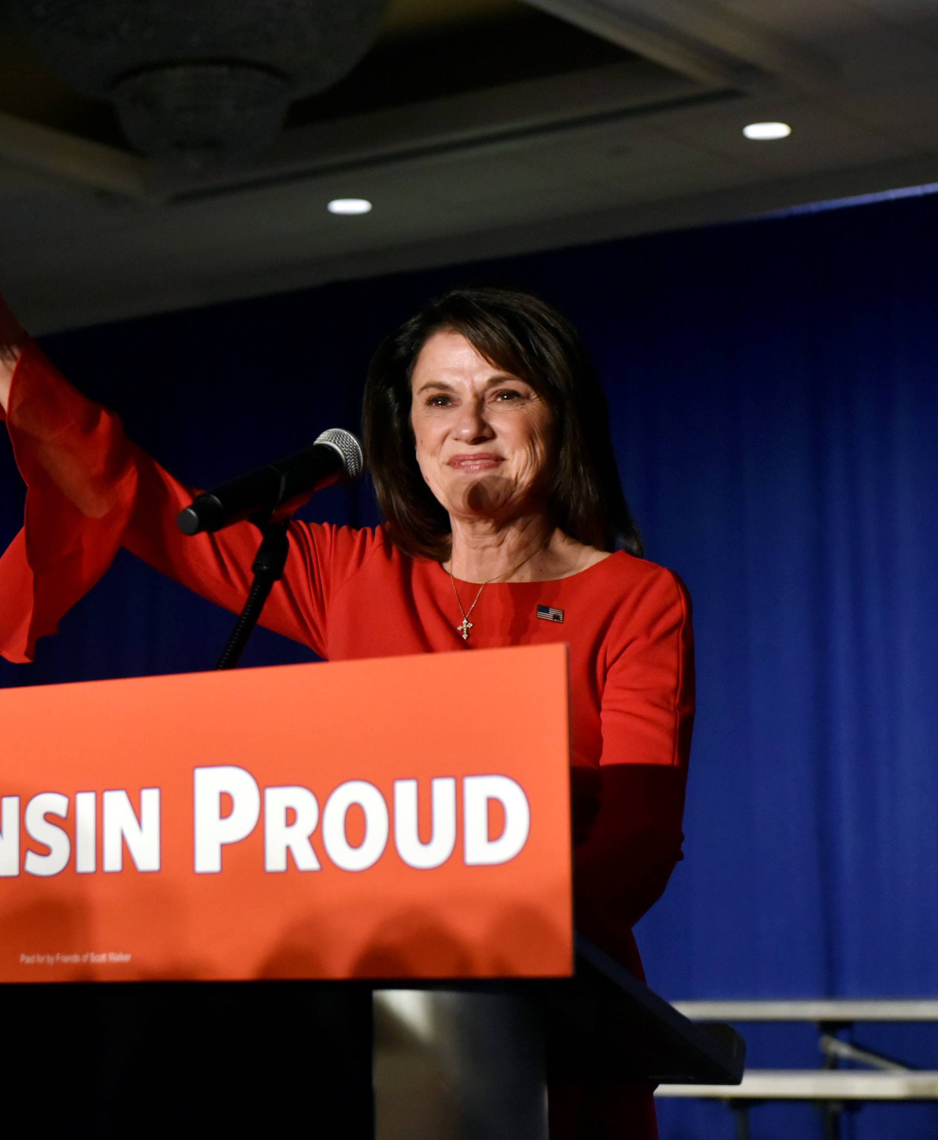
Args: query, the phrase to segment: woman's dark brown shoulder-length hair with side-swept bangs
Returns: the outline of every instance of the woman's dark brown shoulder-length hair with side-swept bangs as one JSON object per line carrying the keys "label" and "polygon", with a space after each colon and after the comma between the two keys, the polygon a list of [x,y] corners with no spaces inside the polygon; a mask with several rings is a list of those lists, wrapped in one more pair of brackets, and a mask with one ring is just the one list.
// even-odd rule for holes
{"label": "woman's dark brown shoulder-length hair with side-swept bangs", "polygon": [[550,408],[556,457],[548,510],[571,538],[642,554],[612,451],[609,408],[576,328],[532,293],[456,288],[385,337],[365,384],[362,437],[389,537],[411,557],[444,561],[449,515],[424,482],[410,426],[410,377],[438,332],[460,333],[494,367],[527,381]]}

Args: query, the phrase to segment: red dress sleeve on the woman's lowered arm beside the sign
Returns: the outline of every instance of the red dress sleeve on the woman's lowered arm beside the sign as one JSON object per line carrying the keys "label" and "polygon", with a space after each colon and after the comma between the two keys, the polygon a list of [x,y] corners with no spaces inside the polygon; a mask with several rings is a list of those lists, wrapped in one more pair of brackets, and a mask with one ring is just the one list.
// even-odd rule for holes
{"label": "red dress sleeve on the woman's lowered arm beside the sign", "polygon": [[578,929],[621,954],[682,858],[694,652],[680,579],[649,568],[609,644],[599,807],[574,852],[574,885]]}

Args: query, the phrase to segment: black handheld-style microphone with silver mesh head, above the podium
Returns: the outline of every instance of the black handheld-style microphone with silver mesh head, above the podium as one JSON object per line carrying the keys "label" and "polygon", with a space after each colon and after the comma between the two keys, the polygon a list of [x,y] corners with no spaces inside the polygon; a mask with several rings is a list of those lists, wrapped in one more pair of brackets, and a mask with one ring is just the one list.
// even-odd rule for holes
{"label": "black handheld-style microphone with silver mesh head, above the podium", "polygon": [[258,467],[193,499],[177,515],[183,535],[221,530],[254,515],[286,518],[323,487],[358,479],[365,469],[361,445],[350,431],[329,427],[312,447]]}

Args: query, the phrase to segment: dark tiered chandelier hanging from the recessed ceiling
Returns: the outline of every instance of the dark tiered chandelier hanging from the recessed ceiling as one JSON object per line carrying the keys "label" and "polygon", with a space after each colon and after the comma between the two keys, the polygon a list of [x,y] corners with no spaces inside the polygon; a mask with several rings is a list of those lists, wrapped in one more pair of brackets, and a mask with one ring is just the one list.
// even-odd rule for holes
{"label": "dark tiered chandelier hanging from the recessed ceiling", "polygon": [[7,0],[42,63],[113,101],[141,154],[198,168],[272,141],[342,79],[388,0]]}

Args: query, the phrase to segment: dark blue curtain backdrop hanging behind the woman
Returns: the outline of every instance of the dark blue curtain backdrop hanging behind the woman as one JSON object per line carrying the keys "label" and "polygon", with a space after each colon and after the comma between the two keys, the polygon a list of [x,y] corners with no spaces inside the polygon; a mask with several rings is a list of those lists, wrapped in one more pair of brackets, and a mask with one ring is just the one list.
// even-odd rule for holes
{"label": "dark blue curtain backdrop hanging behind the woman", "polygon": [[[533,288],[605,378],[649,556],[694,598],[686,860],[638,928],[671,997],[938,995],[938,197],[642,237],[47,337],[181,478],[211,484],[354,426],[381,336],[452,284]],[[22,518],[0,449],[0,542]],[[373,524],[366,486],[307,513]],[[122,555],[3,685],[210,668],[231,618]],[[245,663],[308,660],[259,633]],[[750,1031],[814,1066],[809,1029]],[[938,1067],[938,1035],[864,1041]],[[666,1140],[728,1137],[661,1106]],[[818,1134],[760,1108],[760,1138]],[[871,1107],[863,1140],[938,1134]]]}

